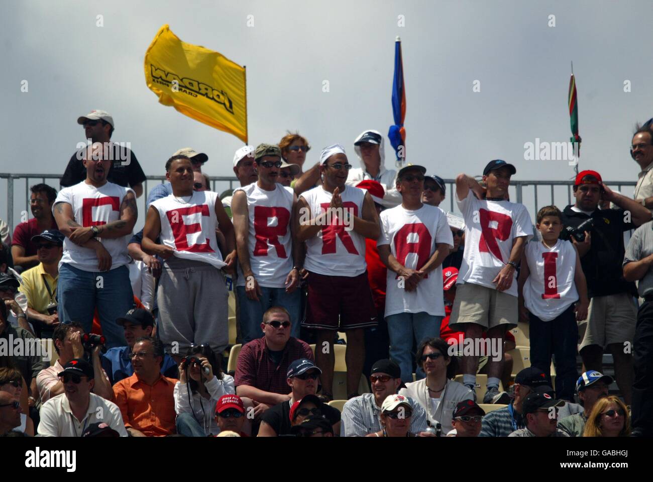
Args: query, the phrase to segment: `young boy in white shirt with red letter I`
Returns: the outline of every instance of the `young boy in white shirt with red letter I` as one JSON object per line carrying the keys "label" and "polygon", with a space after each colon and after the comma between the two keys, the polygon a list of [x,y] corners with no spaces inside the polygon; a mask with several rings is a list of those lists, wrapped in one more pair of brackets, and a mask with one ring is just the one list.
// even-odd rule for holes
{"label": "young boy in white shirt with red letter I", "polygon": [[[573,244],[558,239],[562,212],[545,206],[537,212],[540,242],[528,243],[518,280],[519,312],[530,321],[531,366],[549,374],[551,355],[556,363],[556,398],[573,402],[576,372],[577,321],[587,317],[590,300]],[[578,301],[578,304],[576,302]]]}

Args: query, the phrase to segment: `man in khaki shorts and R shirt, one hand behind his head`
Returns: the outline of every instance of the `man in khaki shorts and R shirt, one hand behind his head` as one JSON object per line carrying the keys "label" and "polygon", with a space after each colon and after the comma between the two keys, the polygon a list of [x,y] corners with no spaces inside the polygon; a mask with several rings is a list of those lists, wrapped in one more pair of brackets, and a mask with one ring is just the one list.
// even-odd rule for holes
{"label": "man in khaki shorts and R shirt, one hand behind his head", "polygon": [[[496,346],[503,347],[506,330],[517,327],[517,263],[533,229],[526,207],[505,201],[515,172],[515,166],[495,159],[483,170],[485,188],[466,174],[456,177],[456,201],[466,237],[449,327],[464,331],[474,346],[486,330],[488,338],[498,339]],[[478,364],[479,353],[463,357],[463,383],[472,393]],[[502,370],[503,353],[493,353],[483,403],[509,400],[499,392]]]}

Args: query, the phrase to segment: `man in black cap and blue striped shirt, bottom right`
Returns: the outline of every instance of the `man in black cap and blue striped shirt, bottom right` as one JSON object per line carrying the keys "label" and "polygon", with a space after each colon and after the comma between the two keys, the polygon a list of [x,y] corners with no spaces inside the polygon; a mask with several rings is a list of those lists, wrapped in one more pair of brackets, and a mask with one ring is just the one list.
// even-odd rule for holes
{"label": "man in black cap and blue striped shirt, bottom right", "polygon": [[[505,408],[490,411],[483,417],[483,428],[479,437],[507,437],[515,430],[524,428],[523,404],[528,394],[543,389],[548,394],[553,394],[553,389],[547,385],[547,376],[539,368],[529,366],[521,370],[515,377],[513,390],[515,398]],[[565,403],[560,406],[558,419],[568,417],[582,411],[578,404]]]}

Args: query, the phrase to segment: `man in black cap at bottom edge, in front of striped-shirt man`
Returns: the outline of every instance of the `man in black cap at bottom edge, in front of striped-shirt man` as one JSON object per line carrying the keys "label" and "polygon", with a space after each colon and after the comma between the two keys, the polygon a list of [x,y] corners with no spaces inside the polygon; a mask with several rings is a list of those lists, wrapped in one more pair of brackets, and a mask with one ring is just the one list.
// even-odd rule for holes
{"label": "man in black cap at bottom edge, in front of striped-shirt man", "polygon": [[558,407],[564,400],[556,400],[546,387],[539,387],[524,398],[522,411],[526,426],[511,433],[509,437],[568,437],[558,428]]}

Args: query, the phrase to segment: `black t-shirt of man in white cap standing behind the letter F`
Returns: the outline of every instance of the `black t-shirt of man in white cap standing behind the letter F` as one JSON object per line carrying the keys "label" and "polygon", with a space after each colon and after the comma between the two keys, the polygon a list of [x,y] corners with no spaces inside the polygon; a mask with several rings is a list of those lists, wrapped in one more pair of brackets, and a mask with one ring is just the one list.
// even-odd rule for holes
{"label": "black t-shirt of man in white cap standing behind the letter F", "polygon": [[[138,164],[138,159],[136,159],[134,153],[126,147],[119,146],[119,144],[112,144],[112,148],[114,161],[106,180],[123,187],[131,187],[144,182],[146,180],[145,173]],[[79,184],[86,179],[86,167],[78,159],[78,157],[81,157],[78,154],[79,152],[81,151],[75,152],[71,156],[71,160],[68,161],[68,166],[59,180],[61,187]],[[127,161],[129,161],[129,164],[123,165]]]}

